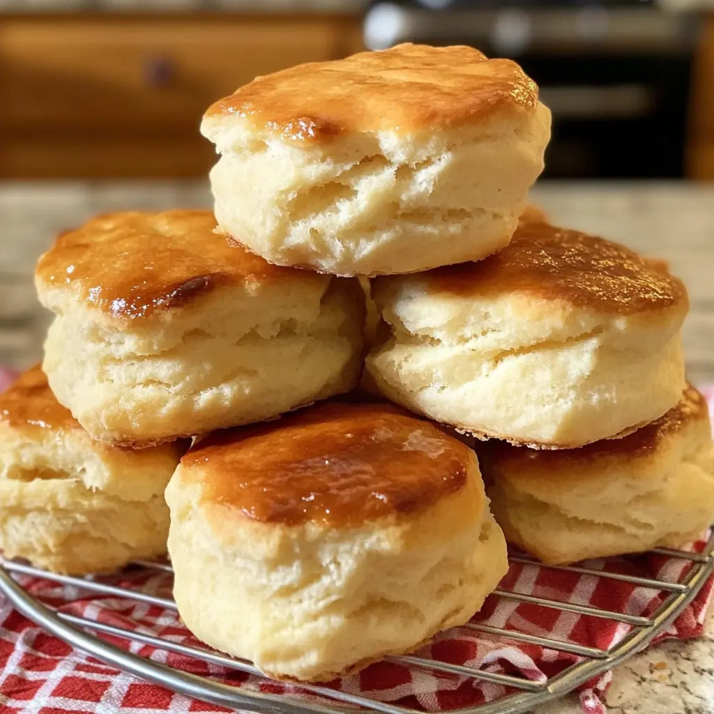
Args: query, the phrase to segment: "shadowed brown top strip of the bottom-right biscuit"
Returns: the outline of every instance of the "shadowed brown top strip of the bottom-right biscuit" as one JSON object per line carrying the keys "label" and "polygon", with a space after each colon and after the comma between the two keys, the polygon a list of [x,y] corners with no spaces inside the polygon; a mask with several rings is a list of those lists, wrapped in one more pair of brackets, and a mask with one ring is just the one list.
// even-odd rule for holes
{"label": "shadowed brown top strip of the bottom-right biscuit", "polygon": [[518,465],[521,464],[524,469],[537,469],[541,475],[551,474],[553,478],[562,478],[563,474],[572,474],[573,478],[577,478],[578,465],[605,458],[629,461],[646,456],[655,451],[667,436],[698,421],[708,424],[707,403],[693,386],[687,385],[680,401],[664,416],[623,438],[602,439],[580,448],[558,451],[512,446],[505,441],[491,439],[478,444],[476,451],[479,463],[489,475],[492,468],[498,473],[499,467],[505,466],[509,473],[517,477]]}

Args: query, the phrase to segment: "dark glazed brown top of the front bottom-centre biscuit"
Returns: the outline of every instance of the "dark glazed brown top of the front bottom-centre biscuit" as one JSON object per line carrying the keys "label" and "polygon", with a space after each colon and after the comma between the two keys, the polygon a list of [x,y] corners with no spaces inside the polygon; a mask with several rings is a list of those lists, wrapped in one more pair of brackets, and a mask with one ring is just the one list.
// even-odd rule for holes
{"label": "dark glazed brown top of the front bottom-centre biscuit", "polygon": [[468,447],[428,421],[347,403],[213,433],[181,459],[205,503],[290,526],[418,513],[463,488],[472,463]]}

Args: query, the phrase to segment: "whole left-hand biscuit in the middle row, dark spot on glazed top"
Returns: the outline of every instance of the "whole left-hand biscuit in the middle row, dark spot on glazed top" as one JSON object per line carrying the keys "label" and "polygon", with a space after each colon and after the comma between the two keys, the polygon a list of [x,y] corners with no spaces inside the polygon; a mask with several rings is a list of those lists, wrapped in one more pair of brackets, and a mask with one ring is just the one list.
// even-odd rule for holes
{"label": "whole left-hand biscuit in the middle row, dark spot on glazed top", "polygon": [[93,438],[147,446],[356,383],[358,282],[272,266],[214,227],[208,211],[114,213],[40,258],[39,296],[56,313],[44,370]]}

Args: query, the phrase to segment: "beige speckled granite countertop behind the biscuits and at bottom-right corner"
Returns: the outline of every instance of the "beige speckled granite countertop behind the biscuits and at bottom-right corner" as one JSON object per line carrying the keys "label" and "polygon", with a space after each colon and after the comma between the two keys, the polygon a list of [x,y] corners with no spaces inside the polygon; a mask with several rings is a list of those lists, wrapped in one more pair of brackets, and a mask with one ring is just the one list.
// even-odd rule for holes
{"label": "beige speckled granite countertop behind the biscuits and at bottom-right corner", "polygon": [[[690,292],[683,338],[688,375],[714,383],[714,185],[543,183],[533,201],[565,226],[599,233],[670,262]],[[94,213],[210,205],[202,181],[0,183],[0,364],[39,360],[48,317],[32,270],[55,233]],[[620,665],[610,714],[714,714],[714,613],[705,635],[658,645]],[[576,714],[574,697],[535,714]]]}

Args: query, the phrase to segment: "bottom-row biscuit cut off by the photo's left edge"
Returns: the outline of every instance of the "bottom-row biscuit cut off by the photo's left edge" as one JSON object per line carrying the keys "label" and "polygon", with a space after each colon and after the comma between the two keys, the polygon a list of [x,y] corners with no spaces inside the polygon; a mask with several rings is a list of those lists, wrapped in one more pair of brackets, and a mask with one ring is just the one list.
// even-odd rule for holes
{"label": "bottom-row biscuit cut off by the photo's left edge", "polygon": [[74,575],[166,553],[164,488],[187,446],[92,441],[39,366],[27,371],[0,395],[0,548]]}

